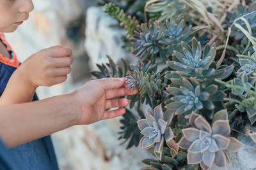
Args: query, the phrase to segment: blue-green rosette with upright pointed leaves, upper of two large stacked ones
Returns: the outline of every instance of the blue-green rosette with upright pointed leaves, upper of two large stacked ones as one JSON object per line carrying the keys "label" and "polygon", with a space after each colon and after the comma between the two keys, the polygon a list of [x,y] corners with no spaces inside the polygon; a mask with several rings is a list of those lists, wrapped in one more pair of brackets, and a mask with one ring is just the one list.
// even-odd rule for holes
{"label": "blue-green rosette with upright pointed leaves, upper of two large stacked ones", "polygon": [[[216,55],[216,46],[213,43],[205,45],[202,52],[201,44],[194,37],[192,46],[181,42],[183,54],[174,51],[173,60],[166,63],[175,71],[166,72],[166,78],[175,78],[175,75],[196,77],[196,78],[227,78],[233,71],[234,66],[220,66],[216,68],[214,58]],[[176,76],[177,78],[177,76]]]}

